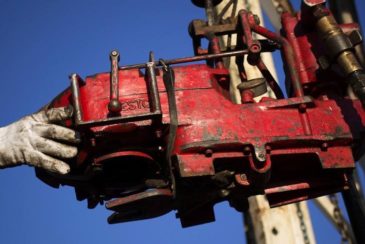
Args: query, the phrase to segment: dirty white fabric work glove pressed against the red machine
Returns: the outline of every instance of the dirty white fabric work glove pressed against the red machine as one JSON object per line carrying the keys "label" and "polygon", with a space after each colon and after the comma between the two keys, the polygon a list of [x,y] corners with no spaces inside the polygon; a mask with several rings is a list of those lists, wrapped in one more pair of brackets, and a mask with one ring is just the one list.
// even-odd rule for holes
{"label": "dirty white fabric work glove pressed against the red machine", "polygon": [[51,108],[0,128],[0,168],[28,164],[59,174],[70,172],[70,166],[56,158],[75,157],[77,148],[62,142],[79,143],[81,135],[53,123],[67,120],[71,115],[70,105]]}

